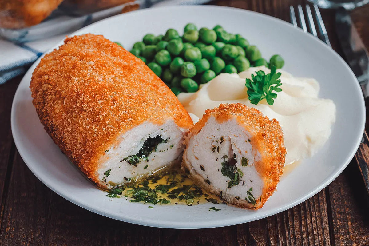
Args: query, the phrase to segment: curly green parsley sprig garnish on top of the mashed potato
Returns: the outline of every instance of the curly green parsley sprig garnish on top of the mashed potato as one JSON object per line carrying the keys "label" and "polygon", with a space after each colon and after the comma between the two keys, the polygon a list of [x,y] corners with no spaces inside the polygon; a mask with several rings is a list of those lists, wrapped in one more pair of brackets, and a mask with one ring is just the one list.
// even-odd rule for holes
{"label": "curly green parsley sprig garnish on top of the mashed potato", "polygon": [[275,66],[270,67],[270,73],[265,74],[263,71],[256,72],[255,75],[251,75],[251,79],[246,79],[245,86],[247,87],[247,95],[249,96],[250,103],[258,104],[264,98],[269,105],[273,105],[274,99],[277,98],[275,92],[280,92],[279,77],[281,73],[276,73]]}

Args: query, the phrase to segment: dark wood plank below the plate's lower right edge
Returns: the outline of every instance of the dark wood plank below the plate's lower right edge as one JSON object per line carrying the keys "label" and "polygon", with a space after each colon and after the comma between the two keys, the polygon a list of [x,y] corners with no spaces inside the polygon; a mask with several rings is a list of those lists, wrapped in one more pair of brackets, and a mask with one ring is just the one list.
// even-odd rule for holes
{"label": "dark wood plank below the plate's lower right edge", "polygon": [[240,245],[330,245],[325,190],[287,211],[237,226]]}

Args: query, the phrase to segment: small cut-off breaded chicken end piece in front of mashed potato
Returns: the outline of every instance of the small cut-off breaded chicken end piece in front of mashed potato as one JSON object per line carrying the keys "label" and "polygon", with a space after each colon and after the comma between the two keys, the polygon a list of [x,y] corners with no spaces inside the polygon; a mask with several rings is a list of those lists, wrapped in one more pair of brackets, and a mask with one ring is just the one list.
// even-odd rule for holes
{"label": "small cut-off breaded chicken end piece in front of mashed potato", "polygon": [[259,209],[275,191],[286,148],[278,121],[259,110],[241,103],[206,110],[185,142],[182,169],[228,203]]}

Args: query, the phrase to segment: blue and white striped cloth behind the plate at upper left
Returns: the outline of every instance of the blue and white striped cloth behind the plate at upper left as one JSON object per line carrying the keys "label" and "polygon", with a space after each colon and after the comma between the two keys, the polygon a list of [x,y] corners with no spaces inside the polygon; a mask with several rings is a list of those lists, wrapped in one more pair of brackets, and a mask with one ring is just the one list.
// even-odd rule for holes
{"label": "blue and white striped cloth behind the plate at upper left", "polygon": [[[169,6],[169,5],[187,5],[187,4],[203,4],[210,0],[136,0],[140,8]],[[120,13],[122,7],[114,7],[108,10],[99,11],[82,17],[59,16],[42,22],[39,25],[28,28],[25,31],[0,30],[1,35],[8,39],[0,38],[0,84],[7,82],[14,77],[21,75],[27,71],[35,60],[37,60],[45,51],[54,46],[71,32],[82,28],[92,22],[101,20],[114,14]],[[62,18],[58,20],[58,18]],[[41,26],[41,27],[40,27]],[[37,41],[31,41],[35,37],[39,38],[39,33],[53,34],[55,30],[59,30],[59,34],[54,33],[52,37],[43,37]],[[60,30],[65,30],[60,34]]]}

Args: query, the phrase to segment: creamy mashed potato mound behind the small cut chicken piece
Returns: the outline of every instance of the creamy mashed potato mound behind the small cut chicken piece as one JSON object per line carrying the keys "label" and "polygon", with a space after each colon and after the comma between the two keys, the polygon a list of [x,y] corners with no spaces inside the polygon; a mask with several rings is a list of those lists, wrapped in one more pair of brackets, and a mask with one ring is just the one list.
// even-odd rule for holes
{"label": "creamy mashed potato mound behind the small cut chicken piece", "polygon": [[[286,163],[311,157],[327,141],[335,122],[336,107],[332,100],[318,98],[319,84],[315,79],[293,77],[283,70],[280,80],[282,91],[277,93],[273,105],[262,100],[251,104],[245,79],[256,71],[270,73],[264,66],[251,67],[237,74],[223,73],[204,84],[196,93],[180,93],[177,97],[192,116],[201,118],[205,110],[222,103],[243,103],[260,110],[270,119],[279,121],[287,149]],[[192,117],[196,120],[196,117]]]}

